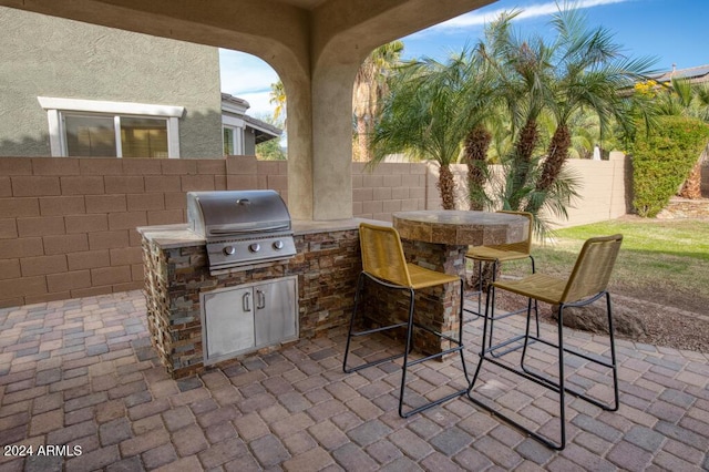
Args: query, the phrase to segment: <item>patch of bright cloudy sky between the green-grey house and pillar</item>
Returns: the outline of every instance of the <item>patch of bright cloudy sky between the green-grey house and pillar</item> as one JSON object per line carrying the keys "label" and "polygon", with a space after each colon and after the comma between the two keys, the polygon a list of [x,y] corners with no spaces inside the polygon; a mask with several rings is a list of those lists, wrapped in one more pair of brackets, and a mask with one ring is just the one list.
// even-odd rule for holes
{"label": "patch of bright cloudy sky between the green-grey house and pillar", "polygon": [[219,49],[219,75],[222,92],[246,100],[251,106],[250,116],[273,114],[270,84],[278,82],[278,74],[259,58],[239,51]]}

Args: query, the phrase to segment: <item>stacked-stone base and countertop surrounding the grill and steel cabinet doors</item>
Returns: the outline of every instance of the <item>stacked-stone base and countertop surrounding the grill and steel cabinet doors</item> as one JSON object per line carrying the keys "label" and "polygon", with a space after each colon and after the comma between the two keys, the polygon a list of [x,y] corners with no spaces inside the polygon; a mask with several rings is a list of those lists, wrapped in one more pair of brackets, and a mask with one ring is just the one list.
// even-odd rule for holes
{"label": "stacked-stone base and countertop surrounding the grill and steel cabinet doors", "polygon": [[295,257],[213,273],[205,240],[186,225],[137,228],[148,330],[168,373],[182,378],[205,370],[199,301],[204,291],[297,276],[299,337],[316,337],[346,325],[361,270],[360,222],[363,219],[294,220]]}

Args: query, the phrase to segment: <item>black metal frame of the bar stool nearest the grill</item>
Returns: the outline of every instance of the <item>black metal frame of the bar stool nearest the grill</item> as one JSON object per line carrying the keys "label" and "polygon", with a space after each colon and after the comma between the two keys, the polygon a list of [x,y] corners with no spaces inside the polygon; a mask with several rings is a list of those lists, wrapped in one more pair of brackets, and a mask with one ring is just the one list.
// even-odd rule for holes
{"label": "black metal frame of the bar stool nearest the grill", "polygon": [[[369,224],[364,224],[362,223],[360,225],[360,238],[362,237],[362,229],[376,229],[376,230],[384,230],[384,232],[389,232],[392,237],[393,235],[395,235],[397,237],[397,243],[400,249],[400,255],[399,257],[401,258],[401,260],[404,264],[404,267],[407,267],[409,270],[413,269],[415,270],[418,274],[423,274],[425,275],[439,275],[439,276],[444,276],[444,279],[446,280],[445,283],[452,283],[455,280],[459,280],[460,283],[460,300],[459,300],[459,328],[458,328],[458,339],[448,336],[445,334],[442,334],[440,331],[436,331],[434,329],[431,329],[430,327],[423,326],[421,324],[418,324],[414,321],[414,309],[415,309],[415,284],[411,283],[411,277],[409,277],[409,285],[401,285],[401,284],[395,284],[392,283],[390,280],[386,280],[382,279],[381,277],[376,277],[372,274],[369,274],[367,270],[362,269],[362,271],[360,271],[358,280],[357,280],[357,290],[354,293],[354,307],[352,308],[352,316],[350,318],[350,324],[349,324],[349,330],[348,330],[348,336],[347,336],[347,345],[345,347],[345,358],[342,360],[342,371],[346,373],[351,373],[351,372],[357,372],[359,370],[369,368],[369,367],[373,367],[373,366],[378,366],[384,362],[389,362],[395,359],[400,359],[403,358],[403,362],[401,366],[401,386],[399,388],[399,415],[401,418],[409,418],[415,413],[419,413],[421,411],[428,410],[430,408],[433,408],[438,404],[444,403],[449,400],[452,400],[456,397],[461,397],[467,393],[469,387],[465,387],[464,389],[454,391],[453,393],[450,393],[443,398],[440,399],[435,399],[435,400],[431,400],[420,407],[413,408],[407,412],[403,411],[403,398],[404,398],[404,392],[405,392],[405,384],[407,384],[407,370],[409,369],[409,367],[412,366],[417,366],[419,363],[425,362],[428,360],[432,360],[432,359],[436,359],[436,358],[441,358],[443,356],[453,353],[453,352],[459,352],[460,357],[461,357],[461,362],[463,366],[463,373],[465,376],[465,381],[467,382],[467,386],[470,386],[470,377],[467,374],[467,368],[465,366],[465,358],[464,358],[464,346],[463,346],[463,301],[464,301],[464,280],[461,277],[456,277],[456,276],[449,276],[446,274],[443,273],[435,273],[433,270],[429,270],[425,269],[423,267],[419,267],[415,266],[413,264],[407,264],[405,259],[403,259],[403,249],[401,248],[401,240],[399,239],[399,234],[395,232],[395,229],[390,228],[390,227],[379,227],[379,226],[374,226],[374,225],[369,225]],[[360,239],[361,242],[361,239]],[[411,267],[414,266],[414,267]],[[409,274],[409,270],[407,270],[407,274]],[[430,273],[430,274],[428,274]],[[409,293],[409,309],[408,309],[408,318],[405,321],[401,321],[401,322],[397,322],[397,324],[392,324],[392,325],[387,325],[387,326],[381,326],[381,327],[377,327],[377,328],[372,328],[372,329],[366,329],[366,330],[361,330],[361,331],[356,331],[354,330],[354,321],[357,318],[357,314],[358,314],[358,308],[360,306],[360,301],[361,301],[361,297],[362,297],[362,291],[364,288],[364,283],[366,280],[369,279],[373,283],[376,283],[377,285],[384,287],[387,289],[393,289],[393,290],[405,290]],[[432,287],[435,285],[441,285],[441,284],[431,284],[431,285],[425,285],[427,287]],[[419,288],[423,288],[423,287],[419,287]],[[392,329],[397,329],[397,328],[405,328],[407,329],[407,335],[405,335],[405,346],[404,346],[404,350],[401,353],[397,353],[393,356],[389,356],[382,359],[377,359],[370,362],[366,362],[363,365],[359,365],[356,367],[347,367],[347,361],[348,361],[348,357],[349,357],[349,352],[350,352],[350,342],[352,340],[352,338],[354,337],[360,337],[360,336],[367,336],[367,335],[372,335],[372,334],[377,334],[377,332],[382,332],[382,331],[387,331],[387,330],[392,330]],[[436,336],[440,339],[446,340],[449,341],[452,347],[445,350],[442,350],[441,352],[436,352],[433,355],[429,355],[422,358],[418,358],[414,360],[409,360],[409,355],[411,353],[411,351],[413,350],[413,330],[414,328],[418,329],[422,329],[424,331],[428,331],[434,336]]]}

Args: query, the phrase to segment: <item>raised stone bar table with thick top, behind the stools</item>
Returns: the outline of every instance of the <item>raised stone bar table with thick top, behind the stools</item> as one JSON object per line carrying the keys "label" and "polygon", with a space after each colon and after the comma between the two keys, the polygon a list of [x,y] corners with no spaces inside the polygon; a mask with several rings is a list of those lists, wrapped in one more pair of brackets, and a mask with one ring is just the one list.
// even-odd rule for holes
{"label": "raised stone bar table with thick top, behind the stools", "polygon": [[[393,214],[407,261],[465,279],[469,246],[518,243],[527,234],[522,216],[491,212],[419,211]],[[417,321],[456,337],[460,285],[433,287],[417,296]],[[414,347],[427,353],[448,348],[422,331]]]}

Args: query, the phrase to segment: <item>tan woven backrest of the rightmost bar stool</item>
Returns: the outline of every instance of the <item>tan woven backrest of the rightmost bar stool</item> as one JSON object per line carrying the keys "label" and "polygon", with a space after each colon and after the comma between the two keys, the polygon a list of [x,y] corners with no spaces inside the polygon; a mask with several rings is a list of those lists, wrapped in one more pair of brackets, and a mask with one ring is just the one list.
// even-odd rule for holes
{"label": "tan woven backrest of the rightmost bar stool", "polygon": [[569,302],[605,291],[623,235],[592,237],[584,243],[561,301]]}

